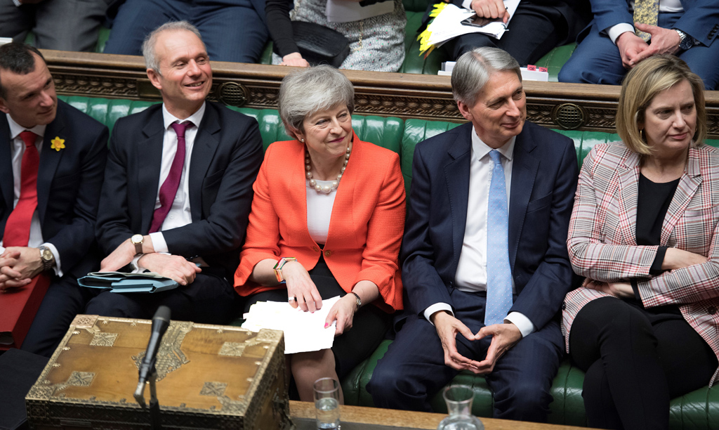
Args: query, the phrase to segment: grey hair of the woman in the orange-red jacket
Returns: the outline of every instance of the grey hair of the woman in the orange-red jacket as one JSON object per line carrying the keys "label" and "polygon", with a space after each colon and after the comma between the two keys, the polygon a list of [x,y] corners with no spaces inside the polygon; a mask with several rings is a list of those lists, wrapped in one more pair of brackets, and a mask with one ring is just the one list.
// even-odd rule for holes
{"label": "grey hair of the woman in the orange-red jacket", "polygon": [[307,116],[343,104],[354,111],[354,86],[331,65],[317,65],[289,73],[280,84],[278,110],[290,136],[304,132]]}

